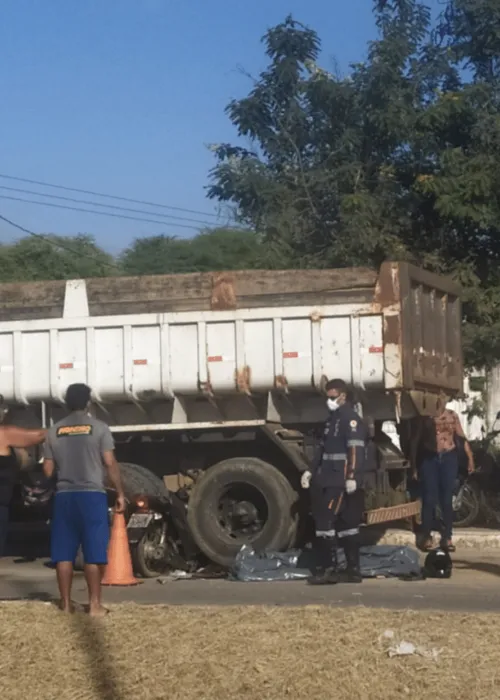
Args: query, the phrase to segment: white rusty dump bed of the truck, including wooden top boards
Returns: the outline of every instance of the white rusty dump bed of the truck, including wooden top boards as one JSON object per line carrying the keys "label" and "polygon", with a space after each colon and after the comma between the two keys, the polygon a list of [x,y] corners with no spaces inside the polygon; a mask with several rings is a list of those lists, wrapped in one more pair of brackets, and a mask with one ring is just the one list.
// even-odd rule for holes
{"label": "white rusty dump bed of the truck, including wooden top boards", "polygon": [[141,405],[178,403],[179,410],[160,411],[161,417],[145,408],[146,417],[121,413],[115,423],[189,422],[196,411],[186,401],[200,397],[226,402],[221,422],[239,418],[231,413],[238,397],[253,405],[254,418],[266,419],[259,396],[300,400],[319,395],[332,377],[366,391],[456,395],[462,389],[459,291],[448,278],[406,263],[385,263],[378,273],[243,271],[4,284],[0,394],[15,404],[60,403],[69,384],[86,382],[103,406],[130,404],[140,412]]}

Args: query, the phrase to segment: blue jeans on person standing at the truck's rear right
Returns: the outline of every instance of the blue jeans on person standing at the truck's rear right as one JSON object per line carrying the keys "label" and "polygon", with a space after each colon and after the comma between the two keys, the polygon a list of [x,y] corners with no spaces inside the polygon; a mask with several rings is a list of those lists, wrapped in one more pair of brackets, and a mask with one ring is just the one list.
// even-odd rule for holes
{"label": "blue jeans on person standing at the truck's rear right", "polygon": [[444,523],[442,536],[451,540],[453,534],[453,492],[458,477],[458,453],[456,450],[428,455],[420,465],[422,483],[422,530],[431,534],[436,507],[441,509]]}

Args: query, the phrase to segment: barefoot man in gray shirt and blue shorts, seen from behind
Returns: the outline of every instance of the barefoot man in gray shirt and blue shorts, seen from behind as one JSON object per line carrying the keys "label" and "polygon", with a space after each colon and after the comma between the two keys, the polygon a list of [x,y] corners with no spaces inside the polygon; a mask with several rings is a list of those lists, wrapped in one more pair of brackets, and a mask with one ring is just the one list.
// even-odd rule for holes
{"label": "barefoot man in gray shirt and blue shorts, seen from behind", "polygon": [[109,542],[107,479],[116,489],[116,509],[123,512],[125,497],[120,469],[108,426],[89,414],[91,390],[71,384],[66,392],[69,415],[47,433],[44,472],[56,474],[51,534],[51,558],[56,564],[61,609],[72,611],[73,562],[83,549],[90,614],[105,614],[101,579]]}

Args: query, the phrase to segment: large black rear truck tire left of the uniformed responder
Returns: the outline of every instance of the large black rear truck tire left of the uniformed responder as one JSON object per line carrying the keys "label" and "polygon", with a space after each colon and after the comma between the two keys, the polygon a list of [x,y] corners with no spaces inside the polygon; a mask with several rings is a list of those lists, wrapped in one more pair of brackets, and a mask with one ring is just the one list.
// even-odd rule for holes
{"label": "large black rear truck tire left of the uniformed responder", "polygon": [[271,464],[236,457],[210,467],[194,485],[188,524],[200,550],[231,566],[244,544],[283,550],[295,539],[297,494]]}

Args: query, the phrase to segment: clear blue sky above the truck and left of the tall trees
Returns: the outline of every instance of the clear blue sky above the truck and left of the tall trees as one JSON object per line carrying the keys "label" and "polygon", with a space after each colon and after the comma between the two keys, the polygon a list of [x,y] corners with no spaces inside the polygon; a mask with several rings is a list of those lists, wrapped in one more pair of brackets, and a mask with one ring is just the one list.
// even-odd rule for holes
{"label": "clear blue sky above the truck and left of the tall trees", "polygon": [[[216,222],[204,192],[206,145],[234,141],[224,107],[249,88],[237,66],[264,68],[260,38],[288,13],[319,32],[326,68],[347,69],[375,37],[370,0],[2,0],[0,173],[199,210],[171,213]],[[0,214],[37,232],[91,233],[112,252],[144,235],[195,233],[174,221],[1,198]],[[0,242],[19,235],[0,222]]]}

